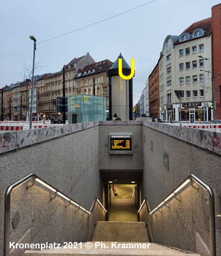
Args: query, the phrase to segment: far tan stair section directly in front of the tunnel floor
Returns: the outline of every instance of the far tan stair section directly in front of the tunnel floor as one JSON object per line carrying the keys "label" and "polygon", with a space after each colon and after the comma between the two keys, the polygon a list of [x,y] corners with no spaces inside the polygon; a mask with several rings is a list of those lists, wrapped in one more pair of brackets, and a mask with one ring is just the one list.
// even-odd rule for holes
{"label": "far tan stair section directly in front of the tunnel floor", "polygon": [[92,241],[148,242],[144,222],[98,221]]}

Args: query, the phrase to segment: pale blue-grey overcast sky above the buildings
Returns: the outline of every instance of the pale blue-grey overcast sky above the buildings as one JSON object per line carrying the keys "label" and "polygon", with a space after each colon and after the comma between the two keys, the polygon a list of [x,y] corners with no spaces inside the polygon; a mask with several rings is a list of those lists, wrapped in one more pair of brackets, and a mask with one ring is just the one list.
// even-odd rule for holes
{"label": "pale blue-grey overcast sky above the buildings", "polygon": [[[1,1],[0,88],[23,80],[18,74],[23,72],[23,63],[33,63],[33,41],[29,36],[34,35],[36,62],[42,61],[45,67],[35,75],[57,72],[87,52],[95,61],[114,62],[119,52],[129,65],[134,58],[133,104],[136,104],[158,61],[165,37],[180,35],[192,23],[211,17],[211,7],[219,3],[218,0]],[[142,4],[145,5],[126,12]],[[80,29],[114,15],[118,16]],[[76,29],[80,30],[69,33]],[[60,36],[65,33],[69,34]],[[60,37],[48,40],[56,36]]]}

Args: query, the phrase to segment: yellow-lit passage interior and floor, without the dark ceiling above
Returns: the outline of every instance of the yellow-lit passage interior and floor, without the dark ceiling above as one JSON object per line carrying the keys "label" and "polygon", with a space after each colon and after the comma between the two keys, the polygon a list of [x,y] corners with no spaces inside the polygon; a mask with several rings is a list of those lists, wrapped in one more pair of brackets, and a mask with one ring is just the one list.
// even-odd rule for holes
{"label": "yellow-lit passage interior and floor, without the dark ceiling above", "polygon": [[137,221],[137,185],[114,185],[110,193],[109,221]]}

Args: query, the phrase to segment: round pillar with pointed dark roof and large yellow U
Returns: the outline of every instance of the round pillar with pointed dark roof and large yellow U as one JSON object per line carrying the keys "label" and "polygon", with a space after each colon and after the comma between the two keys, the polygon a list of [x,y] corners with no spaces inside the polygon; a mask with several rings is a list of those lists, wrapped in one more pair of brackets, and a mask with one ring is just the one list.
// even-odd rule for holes
{"label": "round pillar with pointed dark roof and large yellow U", "polygon": [[[122,61],[120,68],[119,59]],[[121,74],[121,76],[119,74]],[[107,76],[109,77],[109,120],[113,119],[114,113],[116,113],[121,120],[133,120],[134,65],[130,68],[123,56],[119,54],[118,59],[114,62],[112,67],[107,70]]]}

